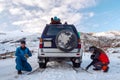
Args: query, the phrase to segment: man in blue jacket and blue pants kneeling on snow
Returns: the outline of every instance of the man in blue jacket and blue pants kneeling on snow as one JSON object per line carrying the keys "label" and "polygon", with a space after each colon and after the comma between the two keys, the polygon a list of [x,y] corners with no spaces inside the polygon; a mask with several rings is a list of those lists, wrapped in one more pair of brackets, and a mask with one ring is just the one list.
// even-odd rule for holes
{"label": "man in blue jacket and blue pants kneeling on snow", "polygon": [[30,50],[25,46],[26,42],[21,41],[21,46],[16,49],[16,69],[18,74],[22,74],[21,71],[32,71],[31,65],[27,62],[27,58],[31,57]]}

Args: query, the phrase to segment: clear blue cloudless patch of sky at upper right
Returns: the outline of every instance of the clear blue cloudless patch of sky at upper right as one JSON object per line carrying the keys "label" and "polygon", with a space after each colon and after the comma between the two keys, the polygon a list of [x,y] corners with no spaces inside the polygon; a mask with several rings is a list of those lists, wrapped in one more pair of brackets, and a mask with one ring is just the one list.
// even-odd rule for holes
{"label": "clear blue cloudless patch of sky at upper right", "polygon": [[120,31],[120,0],[99,0],[96,6],[82,10],[94,12],[92,18],[83,21],[88,32]]}

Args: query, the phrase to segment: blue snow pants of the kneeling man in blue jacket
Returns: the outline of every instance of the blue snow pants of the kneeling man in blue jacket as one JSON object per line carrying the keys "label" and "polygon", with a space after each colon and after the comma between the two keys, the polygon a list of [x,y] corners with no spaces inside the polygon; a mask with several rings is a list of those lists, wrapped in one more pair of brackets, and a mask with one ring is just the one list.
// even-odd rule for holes
{"label": "blue snow pants of the kneeling man in blue jacket", "polygon": [[27,60],[22,60],[20,57],[16,58],[16,69],[19,71],[32,71],[31,65],[27,62]]}

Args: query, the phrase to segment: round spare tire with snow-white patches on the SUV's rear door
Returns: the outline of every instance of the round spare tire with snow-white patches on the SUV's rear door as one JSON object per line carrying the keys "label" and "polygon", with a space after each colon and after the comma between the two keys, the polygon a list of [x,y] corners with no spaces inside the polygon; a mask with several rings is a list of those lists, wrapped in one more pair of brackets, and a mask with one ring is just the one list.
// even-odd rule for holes
{"label": "round spare tire with snow-white patches on the SUV's rear door", "polygon": [[77,46],[77,36],[69,30],[62,30],[57,34],[55,43],[60,50],[69,52]]}

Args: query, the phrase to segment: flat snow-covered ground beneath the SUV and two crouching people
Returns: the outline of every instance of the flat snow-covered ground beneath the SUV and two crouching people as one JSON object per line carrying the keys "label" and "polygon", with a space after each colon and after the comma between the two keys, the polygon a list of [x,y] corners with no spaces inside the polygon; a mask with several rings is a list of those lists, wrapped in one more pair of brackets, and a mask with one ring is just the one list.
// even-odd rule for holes
{"label": "flat snow-covered ground beneath the SUV and two crouching people", "polygon": [[[93,74],[83,70],[78,73],[71,67],[70,62],[49,62],[43,72],[34,72],[30,75],[17,76],[15,70],[15,58],[0,60],[0,79],[1,80],[120,80],[120,53],[108,53],[110,57],[110,70],[108,73],[93,71],[92,67],[88,70]],[[82,67],[85,68],[90,63],[90,53],[84,53]],[[29,58],[29,63],[33,70],[38,66],[37,50]]]}

